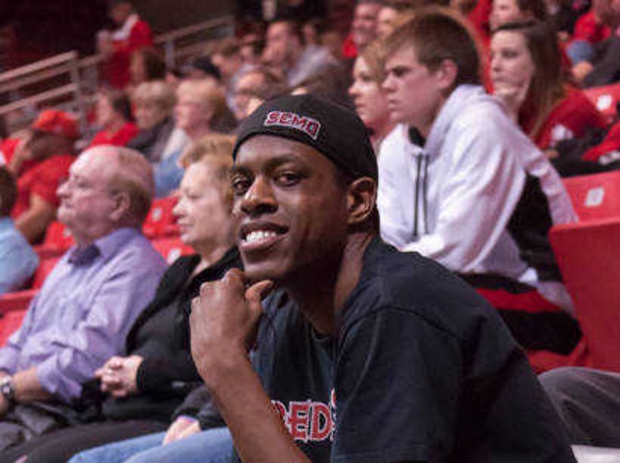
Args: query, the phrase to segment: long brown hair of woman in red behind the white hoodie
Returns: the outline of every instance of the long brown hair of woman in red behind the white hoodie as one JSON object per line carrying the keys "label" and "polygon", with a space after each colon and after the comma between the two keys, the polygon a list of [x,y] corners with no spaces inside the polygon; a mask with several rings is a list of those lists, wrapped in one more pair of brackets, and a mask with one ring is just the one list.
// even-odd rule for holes
{"label": "long brown hair of woman in red behind the white hoodie", "polygon": [[530,136],[535,136],[560,99],[564,98],[565,80],[562,75],[562,56],[556,32],[542,21],[506,23],[495,29],[499,32],[515,32],[525,38],[530,57],[534,63],[534,75],[528,95],[519,111],[519,119]]}

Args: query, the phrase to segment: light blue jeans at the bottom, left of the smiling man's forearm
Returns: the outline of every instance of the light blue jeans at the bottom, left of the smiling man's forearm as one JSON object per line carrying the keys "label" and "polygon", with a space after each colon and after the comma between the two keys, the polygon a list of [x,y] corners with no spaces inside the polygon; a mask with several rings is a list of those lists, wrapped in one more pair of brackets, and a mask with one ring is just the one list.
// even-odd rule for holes
{"label": "light blue jeans at the bottom, left of the smiling man's forearm", "polygon": [[227,427],[202,431],[162,445],[166,433],[114,442],[77,453],[69,463],[224,463],[232,456],[232,437]]}

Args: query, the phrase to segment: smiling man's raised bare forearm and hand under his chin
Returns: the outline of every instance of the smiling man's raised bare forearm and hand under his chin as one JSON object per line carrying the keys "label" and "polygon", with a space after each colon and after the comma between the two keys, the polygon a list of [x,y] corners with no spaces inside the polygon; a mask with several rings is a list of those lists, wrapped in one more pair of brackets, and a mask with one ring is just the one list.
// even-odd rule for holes
{"label": "smiling man's raised bare forearm and hand under his chin", "polygon": [[192,355],[242,461],[307,462],[253,370],[247,346],[262,311],[262,281],[245,289],[240,270],[205,283],[190,316]]}

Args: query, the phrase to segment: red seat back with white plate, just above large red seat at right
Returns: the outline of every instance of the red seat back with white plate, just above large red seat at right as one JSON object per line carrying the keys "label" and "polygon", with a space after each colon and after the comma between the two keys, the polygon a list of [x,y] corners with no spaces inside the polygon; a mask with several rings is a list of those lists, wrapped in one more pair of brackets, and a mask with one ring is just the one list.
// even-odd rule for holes
{"label": "red seat back with white plate, just above large red seat at right", "polygon": [[620,171],[563,180],[580,221],[620,217]]}

